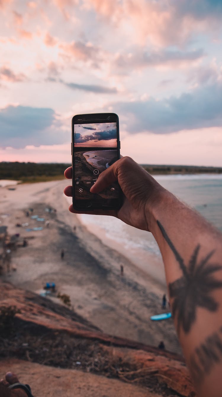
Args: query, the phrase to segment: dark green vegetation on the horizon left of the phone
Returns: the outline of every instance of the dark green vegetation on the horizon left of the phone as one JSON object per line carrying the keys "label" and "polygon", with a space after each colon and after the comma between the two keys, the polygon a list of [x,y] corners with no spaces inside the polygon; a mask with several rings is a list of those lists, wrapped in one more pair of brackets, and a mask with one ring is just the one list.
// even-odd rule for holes
{"label": "dark green vegetation on the horizon left of the phone", "polygon": [[0,162],[0,179],[12,179],[23,183],[46,182],[64,178],[70,164]]}

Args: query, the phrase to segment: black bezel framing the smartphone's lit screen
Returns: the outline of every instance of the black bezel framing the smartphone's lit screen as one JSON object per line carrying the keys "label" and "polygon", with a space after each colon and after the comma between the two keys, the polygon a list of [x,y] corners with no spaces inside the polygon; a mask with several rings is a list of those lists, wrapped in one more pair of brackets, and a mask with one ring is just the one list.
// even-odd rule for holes
{"label": "black bezel framing the smartphone's lit screen", "polygon": [[115,123],[117,130],[117,156],[120,159],[120,132],[119,132],[119,118],[116,113],[93,113],[93,114],[77,114],[72,118],[72,205],[75,210],[118,210],[121,206],[121,188],[119,186],[118,199],[96,199],[95,201],[82,199],[75,199],[75,167],[74,167],[74,125],[88,124],[88,123]]}

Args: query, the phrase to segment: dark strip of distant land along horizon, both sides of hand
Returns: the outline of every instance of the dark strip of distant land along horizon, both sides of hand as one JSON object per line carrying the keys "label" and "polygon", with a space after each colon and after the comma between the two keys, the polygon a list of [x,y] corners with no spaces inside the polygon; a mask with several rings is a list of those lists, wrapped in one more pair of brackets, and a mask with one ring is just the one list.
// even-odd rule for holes
{"label": "dark strip of distant land along horizon, both sides of hand", "polygon": [[[0,179],[11,179],[22,183],[53,181],[64,178],[66,163],[0,162]],[[152,175],[222,173],[222,167],[175,166],[141,164]]]}

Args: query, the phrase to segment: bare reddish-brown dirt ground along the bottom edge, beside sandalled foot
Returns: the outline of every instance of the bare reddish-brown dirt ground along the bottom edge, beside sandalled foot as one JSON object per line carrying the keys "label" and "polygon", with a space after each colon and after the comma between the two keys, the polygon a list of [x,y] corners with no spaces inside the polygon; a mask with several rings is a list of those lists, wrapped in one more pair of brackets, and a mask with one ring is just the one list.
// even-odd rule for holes
{"label": "bare reddish-brown dirt ground along the bottom edge, beside sandalled foot", "polygon": [[104,376],[44,366],[17,359],[0,361],[0,379],[8,371],[29,384],[35,397],[159,397],[147,389]]}

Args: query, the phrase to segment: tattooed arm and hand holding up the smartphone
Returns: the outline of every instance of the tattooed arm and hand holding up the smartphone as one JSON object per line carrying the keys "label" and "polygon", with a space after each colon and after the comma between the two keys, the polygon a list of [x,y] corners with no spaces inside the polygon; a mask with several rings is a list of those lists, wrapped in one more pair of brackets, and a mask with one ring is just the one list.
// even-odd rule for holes
{"label": "tattooed arm and hand holding up the smartphone", "polygon": [[[72,179],[72,167],[65,170]],[[122,157],[91,187],[99,193],[118,181],[123,191],[119,210],[70,212],[111,215],[150,231],[159,245],[184,357],[201,397],[222,390],[222,234],[198,212],[164,189],[141,166]],[[64,189],[72,197],[72,186]]]}

